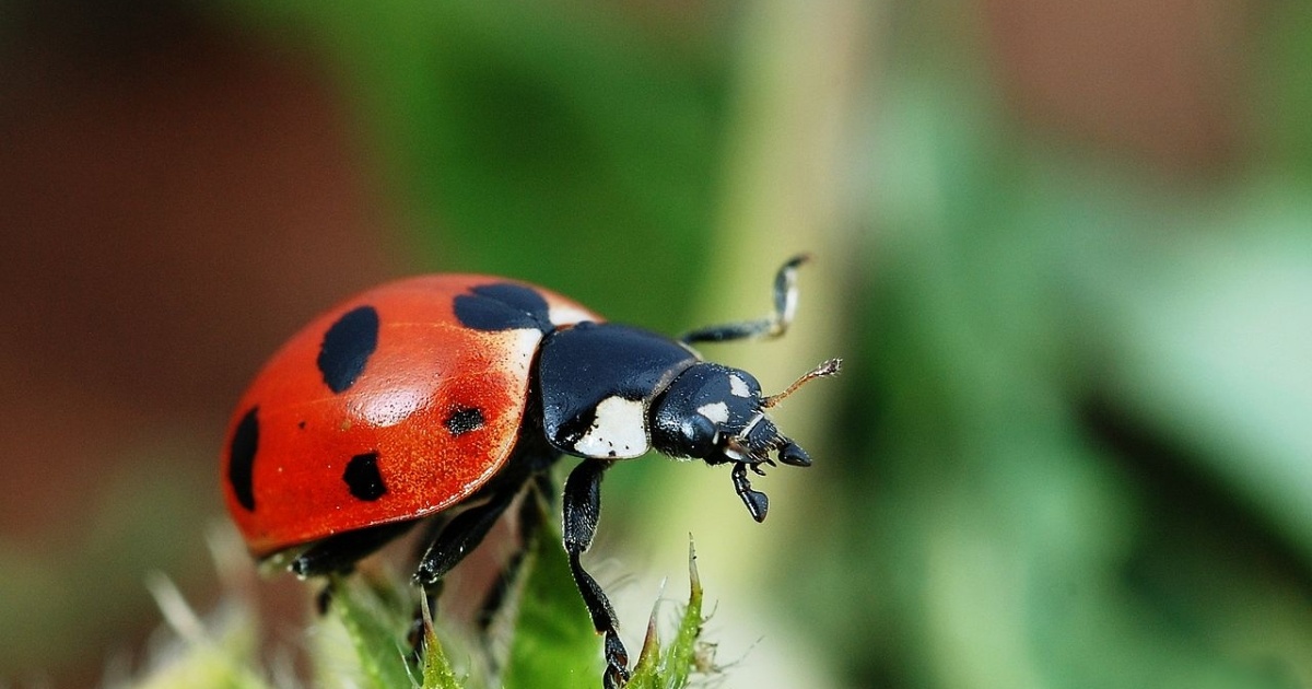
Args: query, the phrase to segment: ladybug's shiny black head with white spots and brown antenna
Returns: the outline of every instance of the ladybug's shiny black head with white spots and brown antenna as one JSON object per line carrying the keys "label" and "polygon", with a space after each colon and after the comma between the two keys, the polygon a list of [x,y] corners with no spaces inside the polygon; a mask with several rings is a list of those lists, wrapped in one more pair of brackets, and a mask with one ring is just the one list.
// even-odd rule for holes
{"label": "ladybug's shiny black head with white spots and brown antenna", "polygon": [[765,409],[807,381],[838,373],[838,364],[827,361],[771,396],[762,396],[761,383],[744,370],[695,364],[680,373],[652,404],[652,446],[672,457],[705,459],[708,465],[736,462],[756,467],[777,459],[810,466],[811,457],[779,433]]}

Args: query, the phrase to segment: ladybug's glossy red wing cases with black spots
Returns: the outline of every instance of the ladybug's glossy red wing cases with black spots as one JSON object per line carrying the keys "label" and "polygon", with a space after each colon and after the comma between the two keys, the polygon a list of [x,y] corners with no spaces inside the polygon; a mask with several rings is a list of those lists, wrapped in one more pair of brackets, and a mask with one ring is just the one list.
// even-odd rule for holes
{"label": "ladybug's glossy red wing cases with black spots", "polygon": [[[260,459],[234,467],[241,454],[235,440],[223,463],[228,512],[253,555],[436,513],[501,469],[543,333],[461,324],[457,295],[493,282],[509,281],[442,274],[375,287],[316,318],[269,360],[228,425],[228,437],[241,438],[243,421],[255,415],[257,437],[247,440]],[[602,320],[550,290],[520,286],[546,301],[554,325]],[[377,346],[367,369],[335,392],[318,364],[325,333],[366,306],[377,310]],[[463,433],[470,424],[479,432]],[[384,492],[361,499],[342,476],[353,458],[370,455],[378,466],[365,469],[388,480]]]}

